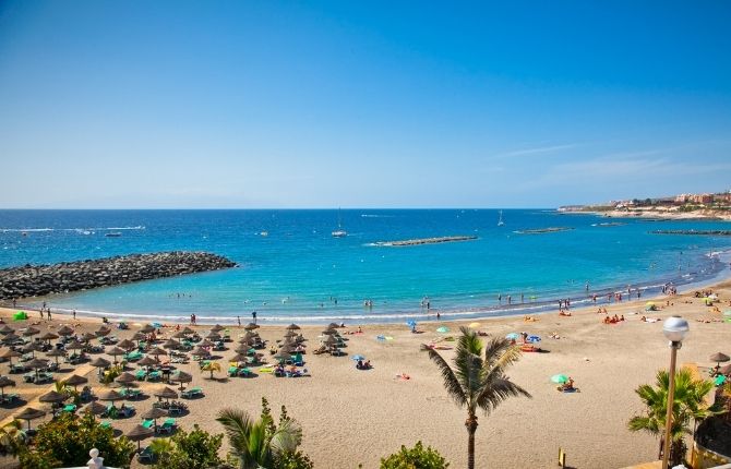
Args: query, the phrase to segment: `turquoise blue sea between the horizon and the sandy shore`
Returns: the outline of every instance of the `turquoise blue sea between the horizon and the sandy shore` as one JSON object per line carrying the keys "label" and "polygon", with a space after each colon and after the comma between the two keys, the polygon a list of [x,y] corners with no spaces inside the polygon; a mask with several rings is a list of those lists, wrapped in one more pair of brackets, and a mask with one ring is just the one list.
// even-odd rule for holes
{"label": "turquoise blue sea between the horizon and the sandy shore", "polygon": [[[159,322],[187,321],[191,313],[201,322],[243,322],[256,311],[274,324],[399,323],[434,318],[438,311],[443,318],[529,314],[555,309],[564,298],[587,304],[591,294],[601,301],[627,286],[650,298],[668,282],[692,288],[729,276],[731,238],[650,233],[729,229],[728,223],[608,219],[553,209],[510,209],[502,217],[498,226],[498,209],[344,209],[339,219],[348,236],[334,238],[333,209],[0,211],[0,268],[208,251],[239,266],[22,303],[45,300],[79,314]],[[571,230],[519,233],[547,227]],[[376,245],[460,234],[477,239]],[[422,306],[426,298],[430,310]]]}

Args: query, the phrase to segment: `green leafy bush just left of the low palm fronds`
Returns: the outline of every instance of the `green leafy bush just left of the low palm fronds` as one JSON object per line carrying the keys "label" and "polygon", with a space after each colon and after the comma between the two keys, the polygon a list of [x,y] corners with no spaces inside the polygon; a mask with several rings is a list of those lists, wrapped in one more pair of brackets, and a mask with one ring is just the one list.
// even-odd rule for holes
{"label": "green leafy bush just left of the low palm fronds", "polygon": [[159,469],[207,469],[220,465],[218,457],[223,434],[212,435],[197,424],[193,431],[178,432],[171,438],[155,440],[151,445],[157,456],[155,468]]}

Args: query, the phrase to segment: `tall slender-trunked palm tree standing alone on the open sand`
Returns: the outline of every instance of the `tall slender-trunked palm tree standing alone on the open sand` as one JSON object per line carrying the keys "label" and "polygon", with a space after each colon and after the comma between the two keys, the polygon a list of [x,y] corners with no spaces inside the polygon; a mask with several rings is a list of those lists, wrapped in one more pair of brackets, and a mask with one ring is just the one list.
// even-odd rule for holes
{"label": "tall slender-trunked palm tree standing alone on the open sand", "polygon": [[454,369],[431,348],[429,358],[436,363],[444,378],[444,387],[459,407],[467,407],[467,467],[475,468],[475,432],[477,409],[487,416],[511,396],[531,397],[523,387],[513,383],[505,371],[520,358],[520,349],[511,341],[492,337],[482,353],[482,341],[475,330],[462,327],[457,342]]}

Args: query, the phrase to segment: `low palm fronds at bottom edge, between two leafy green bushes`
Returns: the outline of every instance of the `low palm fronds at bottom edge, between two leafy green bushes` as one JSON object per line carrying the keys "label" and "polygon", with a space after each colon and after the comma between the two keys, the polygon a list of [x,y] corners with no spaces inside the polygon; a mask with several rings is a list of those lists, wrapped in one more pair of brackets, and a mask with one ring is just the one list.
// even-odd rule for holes
{"label": "low palm fronds at bottom edge, between two leafy green bushes", "polygon": [[275,428],[268,416],[253,420],[242,410],[228,408],[218,412],[216,420],[226,430],[240,469],[272,468],[278,457],[295,453],[302,441],[302,429],[291,419]]}

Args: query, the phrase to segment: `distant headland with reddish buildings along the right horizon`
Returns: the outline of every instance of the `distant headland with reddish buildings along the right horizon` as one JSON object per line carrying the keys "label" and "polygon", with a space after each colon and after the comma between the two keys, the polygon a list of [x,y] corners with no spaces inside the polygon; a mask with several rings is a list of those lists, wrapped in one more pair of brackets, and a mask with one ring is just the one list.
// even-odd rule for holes
{"label": "distant headland with reddish buildings along the right horizon", "polygon": [[657,199],[611,201],[597,205],[566,205],[564,214],[598,214],[606,217],[642,217],[650,219],[717,219],[731,221],[731,191],[704,194],[679,194]]}

